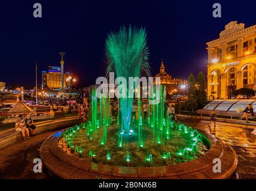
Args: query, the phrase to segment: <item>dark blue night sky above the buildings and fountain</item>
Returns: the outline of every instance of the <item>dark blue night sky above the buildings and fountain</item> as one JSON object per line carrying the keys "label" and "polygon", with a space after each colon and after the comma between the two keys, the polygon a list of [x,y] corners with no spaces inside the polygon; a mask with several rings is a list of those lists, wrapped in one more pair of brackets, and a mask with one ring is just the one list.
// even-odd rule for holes
{"label": "dark blue night sky above the buildings and fountain", "polygon": [[[33,4],[42,4],[42,18],[33,17]],[[222,5],[222,18],[212,17],[212,5]],[[218,38],[229,21],[256,24],[256,1],[1,1],[0,81],[33,85],[38,70],[59,65],[78,76],[80,86],[105,75],[104,47],[111,30],[129,24],[148,32],[152,73],[161,58],[174,77],[192,72],[206,75],[206,42]],[[40,80],[41,82],[41,80]]]}

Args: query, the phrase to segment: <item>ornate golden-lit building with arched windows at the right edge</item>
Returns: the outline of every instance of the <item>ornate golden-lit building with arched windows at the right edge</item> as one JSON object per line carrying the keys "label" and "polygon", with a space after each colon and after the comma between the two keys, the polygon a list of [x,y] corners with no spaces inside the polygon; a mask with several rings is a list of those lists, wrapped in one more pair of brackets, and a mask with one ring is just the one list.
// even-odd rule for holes
{"label": "ornate golden-lit building with arched windows at the right edge", "polygon": [[234,98],[240,88],[255,90],[256,25],[231,21],[208,45],[208,97]]}

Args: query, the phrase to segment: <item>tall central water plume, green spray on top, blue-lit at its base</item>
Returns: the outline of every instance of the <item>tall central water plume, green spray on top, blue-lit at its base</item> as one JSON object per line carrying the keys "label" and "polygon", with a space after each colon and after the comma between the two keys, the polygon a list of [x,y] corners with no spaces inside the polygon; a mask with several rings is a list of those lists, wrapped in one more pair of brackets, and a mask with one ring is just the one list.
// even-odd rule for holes
{"label": "tall central water plume, green spray on top, blue-lit at its base", "polygon": [[[115,78],[124,77],[129,82],[129,77],[139,77],[142,73],[150,75],[148,56],[147,33],[142,27],[123,26],[118,32],[110,33],[106,39],[106,73],[115,72]],[[120,96],[119,103],[122,125],[127,132],[130,129],[133,98],[128,97],[128,90],[125,91],[127,98]]]}

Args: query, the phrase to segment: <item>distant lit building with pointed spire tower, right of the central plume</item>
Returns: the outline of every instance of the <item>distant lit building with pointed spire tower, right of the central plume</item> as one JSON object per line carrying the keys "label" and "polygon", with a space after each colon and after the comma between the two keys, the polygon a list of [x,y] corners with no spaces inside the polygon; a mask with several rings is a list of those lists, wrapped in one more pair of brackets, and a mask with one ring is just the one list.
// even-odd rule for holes
{"label": "distant lit building with pointed spire tower, right of the central plume", "polygon": [[[163,61],[161,61],[161,66],[159,73],[154,76],[154,79],[156,77],[160,77],[161,81],[160,83],[166,86],[166,93],[171,94],[184,94],[185,87],[181,87],[181,85],[186,85],[187,81],[179,79],[179,78],[172,78],[172,75],[169,75],[164,67]],[[155,84],[155,81],[154,81]]]}

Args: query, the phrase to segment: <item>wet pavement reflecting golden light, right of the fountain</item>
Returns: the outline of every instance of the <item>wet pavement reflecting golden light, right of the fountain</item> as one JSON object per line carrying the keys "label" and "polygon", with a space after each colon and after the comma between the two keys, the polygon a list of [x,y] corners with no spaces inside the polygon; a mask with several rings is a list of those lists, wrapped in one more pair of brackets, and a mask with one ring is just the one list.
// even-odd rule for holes
{"label": "wet pavement reflecting golden light, right of the fountain", "polygon": [[200,131],[211,133],[233,147],[238,156],[238,165],[231,178],[256,179],[256,135],[252,133],[256,131],[256,127],[217,122],[216,127],[211,124],[210,129],[209,121],[185,119],[182,122]]}

